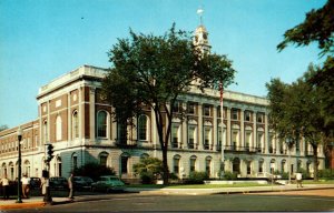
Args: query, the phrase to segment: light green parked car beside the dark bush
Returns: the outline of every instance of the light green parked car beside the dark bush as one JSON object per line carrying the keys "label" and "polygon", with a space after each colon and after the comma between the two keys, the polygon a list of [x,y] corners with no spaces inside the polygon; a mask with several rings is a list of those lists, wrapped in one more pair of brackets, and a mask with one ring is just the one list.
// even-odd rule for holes
{"label": "light green parked car beside the dark bush", "polygon": [[125,183],[115,175],[104,175],[99,180],[91,184],[91,191],[124,191]]}

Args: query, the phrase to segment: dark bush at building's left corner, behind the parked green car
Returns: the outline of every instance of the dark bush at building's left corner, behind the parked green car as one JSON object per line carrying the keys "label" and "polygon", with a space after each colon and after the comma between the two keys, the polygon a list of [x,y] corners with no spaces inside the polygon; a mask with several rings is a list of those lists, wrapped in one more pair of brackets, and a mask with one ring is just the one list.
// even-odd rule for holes
{"label": "dark bush at building's left corner, behind the parked green car", "polygon": [[115,175],[116,172],[112,168],[106,168],[98,163],[87,163],[81,168],[75,170],[77,176],[89,176],[97,181],[101,175]]}

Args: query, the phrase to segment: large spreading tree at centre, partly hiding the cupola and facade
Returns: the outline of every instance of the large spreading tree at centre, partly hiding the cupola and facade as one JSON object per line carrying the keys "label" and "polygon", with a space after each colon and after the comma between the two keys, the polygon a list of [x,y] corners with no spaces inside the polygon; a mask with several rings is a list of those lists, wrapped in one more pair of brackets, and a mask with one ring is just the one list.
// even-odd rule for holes
{"label": "large spreading tree at centre, partly hiding the cupola and facade", "polygon": [[167,184],[173,106],[191,87],[204,92],[205,88],[217,88],[218,82],[230,84],[235,73],[232,61],[226,55],[203,53],[194,47],[190,33],[176,31],[175,24],[164,36],[130,31],[130,38],[118,39],[108,54],[111,69],[102,90],[115,109],[112,116],[134,124],[144,108],[154,111]]}

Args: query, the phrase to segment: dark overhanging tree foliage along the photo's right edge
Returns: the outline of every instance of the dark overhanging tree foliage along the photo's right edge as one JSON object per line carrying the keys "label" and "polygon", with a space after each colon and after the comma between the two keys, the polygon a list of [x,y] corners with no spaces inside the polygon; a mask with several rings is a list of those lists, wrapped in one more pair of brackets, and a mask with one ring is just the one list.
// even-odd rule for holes
{"label": "dark overhanging tree foliage along the photo's right edge", "polygon": [[323,8],[306,13],[303,23],[287,30],[284,40],[277,45],[278,51],[288,44],[308,45],[316,42],[321,57],[327,57],[323,65],[315,68],[315,73],[307,81],[315,87],[324,125],[322,140],[325,150],[334,140],[334,0],[328,0]]}

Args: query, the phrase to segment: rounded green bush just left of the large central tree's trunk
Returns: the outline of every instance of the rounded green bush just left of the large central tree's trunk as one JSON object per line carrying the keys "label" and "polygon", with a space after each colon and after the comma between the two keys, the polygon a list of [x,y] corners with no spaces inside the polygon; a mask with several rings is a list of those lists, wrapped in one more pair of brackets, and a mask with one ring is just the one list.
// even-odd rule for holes
{"label": "rounded green bush just left of the large central tree's trunk", "polygon": [[139,174],[144,184],[154,183],[164,171],[163,161],[157,158],[143,158],[139,163],[134,165],[134,172],[136,175]]}

